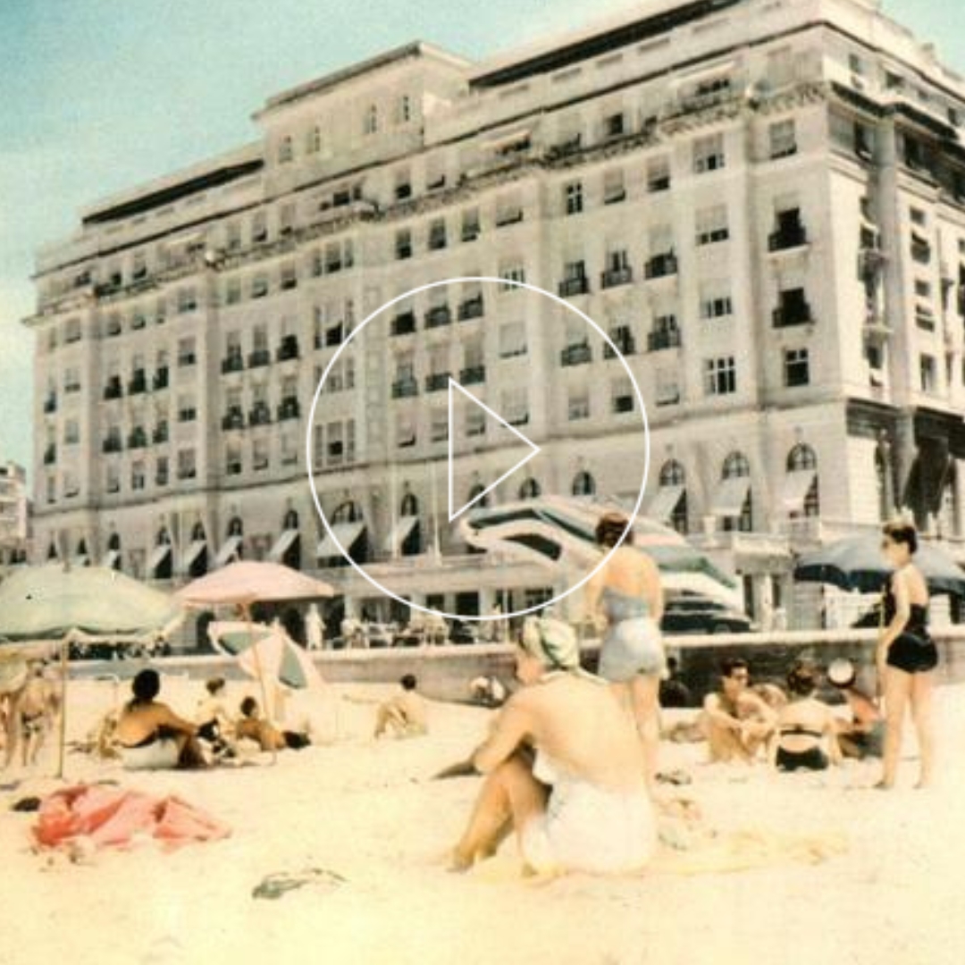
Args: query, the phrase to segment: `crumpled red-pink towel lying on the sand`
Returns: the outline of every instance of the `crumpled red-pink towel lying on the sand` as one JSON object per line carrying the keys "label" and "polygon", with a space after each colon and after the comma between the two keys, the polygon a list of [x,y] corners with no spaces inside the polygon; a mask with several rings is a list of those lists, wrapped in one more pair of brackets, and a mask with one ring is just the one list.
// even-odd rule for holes
{"label": "crumpled red-pink towel lying on the sand", "polygon": [[34,838],[56,847],[84,835],[98,847],[124,847],[137,833],[171,846],[217,841],[231,829],[175,796],[152,797],[118,787],[77,785],[43,799]]}

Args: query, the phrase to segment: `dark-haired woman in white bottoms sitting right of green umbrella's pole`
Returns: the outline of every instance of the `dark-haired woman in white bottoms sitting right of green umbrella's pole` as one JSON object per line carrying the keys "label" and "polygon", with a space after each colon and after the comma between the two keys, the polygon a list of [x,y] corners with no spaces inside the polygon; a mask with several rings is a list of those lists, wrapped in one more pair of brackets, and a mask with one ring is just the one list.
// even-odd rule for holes
{"label": "dark-haired woman in white bottoms sitting right of green umbrella's pole", "polygon": [[133,698],[124,704],[116,737],[124,767],[155,770],[207,765],[198,729],[182,720],[166,703],[154,700],[161,690],[157,671],[142,670],[131,681]]}

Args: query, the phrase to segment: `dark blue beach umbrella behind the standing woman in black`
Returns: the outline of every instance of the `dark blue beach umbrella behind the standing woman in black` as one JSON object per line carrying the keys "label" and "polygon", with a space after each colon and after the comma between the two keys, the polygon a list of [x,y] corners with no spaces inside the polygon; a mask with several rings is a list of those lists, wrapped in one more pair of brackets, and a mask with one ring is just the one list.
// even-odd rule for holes
{"label": "dark blue beach umbrella behind the standing woman in black", "polygon": [[[930,593],[965,596],[965,569],[937,546],[920,541],[914,563]],[[841,590],[877,593],[892,572],[881,552],[880,535],[838,539],[804,554],[794,567],[802,583],[829,583]]]}

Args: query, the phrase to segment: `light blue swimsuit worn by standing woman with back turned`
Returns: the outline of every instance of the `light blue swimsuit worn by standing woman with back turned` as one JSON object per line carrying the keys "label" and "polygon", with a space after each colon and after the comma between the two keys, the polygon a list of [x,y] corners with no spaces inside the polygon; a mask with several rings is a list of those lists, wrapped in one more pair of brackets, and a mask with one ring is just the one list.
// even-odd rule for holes
{"label": "light blue swimsuit worn by standing woman with back turned", "polygon": [[660,628],[640,596],[604,587],[601,597],[607,631],[600,648],[599,676],[613,683],[637,674],[663,674],[667,669]]}

